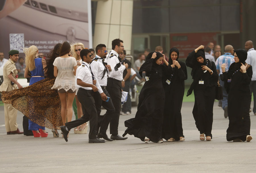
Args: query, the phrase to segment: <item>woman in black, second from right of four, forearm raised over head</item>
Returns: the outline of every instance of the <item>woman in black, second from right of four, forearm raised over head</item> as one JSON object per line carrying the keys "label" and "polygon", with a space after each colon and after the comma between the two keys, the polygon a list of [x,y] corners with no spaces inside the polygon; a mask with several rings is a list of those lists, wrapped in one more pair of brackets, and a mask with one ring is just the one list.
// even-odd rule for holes
{"label": "woman in black, second from right of four, forearm raised over head", "polygon": [[187,56],[186,65],[192,68],[193,82],[187,91],[189,96],[194,90],[195,104],[193,116],[197,129],[200,131],[200,140],[212,139],[213,104],[215,86],[218,82],[218,73],[215,63],[205,59],[204,46],[201,45]]}

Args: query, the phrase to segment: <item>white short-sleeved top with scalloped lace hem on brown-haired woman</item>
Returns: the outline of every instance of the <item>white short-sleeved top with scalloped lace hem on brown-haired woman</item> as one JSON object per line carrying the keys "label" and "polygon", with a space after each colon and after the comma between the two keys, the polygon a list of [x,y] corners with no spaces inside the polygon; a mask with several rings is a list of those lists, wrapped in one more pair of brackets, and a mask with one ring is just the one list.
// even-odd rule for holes
{"label": "white short-sleeved top with scalloped lace hem on brown-haired woman", "polygon": [[76,91],[75,76],[73,74],[74,66],[77,65],[76,59],[74,57],[57,57],[53,65],[57,67],[58,75],[51,89],[65,89],[65,91],[72,89],[72,91]]}

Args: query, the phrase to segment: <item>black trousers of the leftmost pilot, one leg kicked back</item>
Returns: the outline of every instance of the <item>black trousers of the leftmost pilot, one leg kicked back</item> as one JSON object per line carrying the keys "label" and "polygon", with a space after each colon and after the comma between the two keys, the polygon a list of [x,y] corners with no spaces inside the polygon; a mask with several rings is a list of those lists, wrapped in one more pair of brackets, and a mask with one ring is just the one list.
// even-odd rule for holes
{"label": "black trousers of the leftmost pilot, one leg kicked back", "polygon": [[79,88],[79,90],[77,91],[77,98],[82,105],[83,116],[81,118],[78,118],[77,120],[67,122],[65,124],[68,130],[70,130],[90,120],[89,139],[93,139],[96,137],[98,126],[97,110],[95,106],[95,101],[91,95],[92,92],[92,90]]}

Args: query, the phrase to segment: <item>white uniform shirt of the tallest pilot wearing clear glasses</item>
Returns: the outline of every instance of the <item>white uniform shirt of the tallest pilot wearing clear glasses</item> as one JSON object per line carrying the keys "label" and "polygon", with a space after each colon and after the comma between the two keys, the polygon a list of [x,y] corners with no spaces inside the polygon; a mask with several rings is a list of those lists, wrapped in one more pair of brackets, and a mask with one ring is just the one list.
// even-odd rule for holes
{"label": "white uniform shirt of the tallest pilot wearing clear glasses", "polygon": [[[113,53],[114,56],[110,58],[110,54]],[[114,50],[111,50],[110,53],[108,53],[107,58],[105,59],[105,62],[108,63],[108,65],[111,66],[112,72],[108,75],[109,78],[114,78],[116,80],[123,80],[123,70],[125,70],[125,66],[121,64],[121,66],[118,68],[118,70],[115,70],[115,65],[117,63],[121,63],[118,60],[118,53]]]}

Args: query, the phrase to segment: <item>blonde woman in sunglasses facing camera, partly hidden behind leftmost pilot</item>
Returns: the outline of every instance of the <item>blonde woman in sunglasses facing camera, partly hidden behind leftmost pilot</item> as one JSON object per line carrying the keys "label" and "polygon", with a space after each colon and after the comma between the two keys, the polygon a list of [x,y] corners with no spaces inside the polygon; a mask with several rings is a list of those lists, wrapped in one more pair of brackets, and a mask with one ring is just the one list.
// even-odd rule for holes
{"label": "blonde woman in sunglasses facing camera, partly hidden behind leftmost pilot", "polygon": [[[75,43],[71,46],[71,52],[72,52],[73,57],[77,61],[77,67],[79,67],[82,64],[82,59],[80,57],[80,51],[82,49],[85,49],[83,43]],[[74,110],[76,119],[81,118],[83,116],[82,105],[79,102],[77,95],[75,96],[75,100],[73,102],[73,110]],[[85,133],[87,133],[87,128],[88,128],[87,123],[84,123],[81,126],[76,127],[74,129],[74,133],[85,134]]]}

